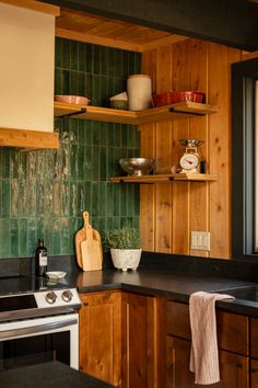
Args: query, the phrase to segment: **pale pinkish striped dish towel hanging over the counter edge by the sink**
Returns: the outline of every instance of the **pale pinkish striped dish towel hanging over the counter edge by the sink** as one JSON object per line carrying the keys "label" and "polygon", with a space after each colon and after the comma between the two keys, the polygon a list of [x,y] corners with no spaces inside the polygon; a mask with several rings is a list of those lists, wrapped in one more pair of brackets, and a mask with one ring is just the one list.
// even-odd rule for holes
{"label": "pale pinkish striped dish towel hanging over the counter edge by the sink", "polygon": [[220,381],[215,301],[226,299],[234,297],[204,292],[190,295],[190,370],[196,374],[195,384],[209,385]]}

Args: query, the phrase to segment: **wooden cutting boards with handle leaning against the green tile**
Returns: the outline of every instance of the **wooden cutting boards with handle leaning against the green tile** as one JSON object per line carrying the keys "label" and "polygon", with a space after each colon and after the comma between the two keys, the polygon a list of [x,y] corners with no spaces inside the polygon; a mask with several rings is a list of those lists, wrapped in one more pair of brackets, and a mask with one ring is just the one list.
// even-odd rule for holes
{"label": "wooden cutting boards with handle leaning against the green tile", "polygon": [[102,270],[103,251],[101,235],[89,224],[89,213],[83,212],[83,228],[75,235],[78,265],[83,271]]}

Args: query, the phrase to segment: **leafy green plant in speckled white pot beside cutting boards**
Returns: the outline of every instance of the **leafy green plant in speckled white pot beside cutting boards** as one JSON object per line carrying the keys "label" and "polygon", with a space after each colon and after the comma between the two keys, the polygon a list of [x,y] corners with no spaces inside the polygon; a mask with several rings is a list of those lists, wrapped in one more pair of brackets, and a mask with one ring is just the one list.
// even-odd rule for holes
{"label": "leafy green plant in speckled white pot beside cutting boards", "polygon": [[107,233],[106,247],[110,248],[113,264],[116,269],[137,270],[140,259],[140,236],[136,228],[122,227]]}

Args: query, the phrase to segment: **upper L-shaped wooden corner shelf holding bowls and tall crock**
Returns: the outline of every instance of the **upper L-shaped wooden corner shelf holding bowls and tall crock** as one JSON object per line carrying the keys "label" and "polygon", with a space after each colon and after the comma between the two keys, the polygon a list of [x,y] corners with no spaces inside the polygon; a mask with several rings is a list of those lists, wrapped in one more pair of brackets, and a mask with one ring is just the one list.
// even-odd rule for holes
{"label": "upper L-shaped wooden corner shelf holding bowls and tall crock", "polygon": [[200,116],[219,111],[216,105],[197,102],[179,102],[176,104],[152,107],[144,111],[121,111],[91,105],[72,105],[55,102],[55,116],[72,115],[77,118],[98,122],[141,125],[148,123],[167,122],[191,116]]}

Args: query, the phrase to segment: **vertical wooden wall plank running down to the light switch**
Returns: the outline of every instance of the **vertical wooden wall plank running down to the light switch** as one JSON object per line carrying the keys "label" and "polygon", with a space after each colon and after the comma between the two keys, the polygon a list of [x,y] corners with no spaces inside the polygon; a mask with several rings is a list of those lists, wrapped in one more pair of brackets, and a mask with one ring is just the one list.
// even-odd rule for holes
{"label": "vertical wooden wall plank running down to the light switch", "polygon": [[[190,42],[190,90],[198,90],[208,94],[208,43],[192,39]],[[207,116],[189,119],[190,139],[200,139],[204,144],[200,148],[202,158],[209,160],[209,121]],[[190,184],[190,230],[209,231],[209,185],[210,183]],[[191,250],[191,255],[208,256],[207,251]]]}

